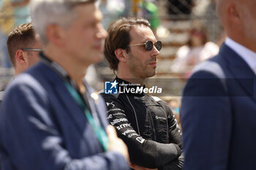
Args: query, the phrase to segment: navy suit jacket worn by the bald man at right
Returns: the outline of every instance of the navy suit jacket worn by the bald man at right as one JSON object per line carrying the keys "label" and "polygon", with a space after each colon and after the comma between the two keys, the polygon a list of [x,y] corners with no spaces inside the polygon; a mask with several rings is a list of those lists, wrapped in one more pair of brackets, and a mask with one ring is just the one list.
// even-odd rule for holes
{"label": "navy suit jacket worn by the bald man at right", "polygon": [[184,88],[184,169],[256,169],[255,73],[225,44],[210,62]]}

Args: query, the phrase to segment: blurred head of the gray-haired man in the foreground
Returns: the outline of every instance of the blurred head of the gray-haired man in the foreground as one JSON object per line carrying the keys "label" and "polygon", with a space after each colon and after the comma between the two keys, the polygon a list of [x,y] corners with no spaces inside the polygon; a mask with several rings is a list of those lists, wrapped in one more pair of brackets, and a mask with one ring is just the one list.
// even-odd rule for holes
{"label": "blurred head of the gray-haired man in the foreground", "polygon": [[[95,0],[34,0],[31,17],[45,45],[45,53],[57,62],[89,66],[102,60],[102,13]],[[58,58],[58,59],[57,59]],[[71,64],[71,63],[70,63]]]}

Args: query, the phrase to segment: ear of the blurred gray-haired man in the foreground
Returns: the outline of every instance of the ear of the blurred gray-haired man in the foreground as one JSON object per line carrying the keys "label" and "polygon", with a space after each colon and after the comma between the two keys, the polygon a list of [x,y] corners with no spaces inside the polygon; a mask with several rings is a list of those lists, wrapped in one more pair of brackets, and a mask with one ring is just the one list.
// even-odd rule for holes
{"label": "ear of the blurred gray-haired man in the foreground", "polygon": [[61,47],[64,45],[64,37],[62,34],[62,29],[55,25],[49,25],[46,28],[46,36],[48,37],[49,41],[52,42],[54,45]]}

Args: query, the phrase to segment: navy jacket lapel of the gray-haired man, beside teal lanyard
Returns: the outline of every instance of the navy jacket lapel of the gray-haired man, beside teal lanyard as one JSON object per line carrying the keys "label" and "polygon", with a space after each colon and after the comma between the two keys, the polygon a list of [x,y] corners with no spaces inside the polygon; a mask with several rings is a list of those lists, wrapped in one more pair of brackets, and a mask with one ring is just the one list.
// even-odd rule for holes
{"label": "navy jacket lapel of the gray-haired man, beside teal lanyard", "polygon": [[[57,109],[57,114],[63,114],[69,117],[69,119],[65,121],[75,125],[75,127],[78,129],[78,134],[83,136],[83,142],[86,144],[90,154],[102,152],[101,147],[95,147],[95,144],[99,144],[99,141],[97,140],[96,136],[93,137],[94,131],[89,122],[86,120],[83,109],[79,107],[75,101],[75,98],[73,98],[69,93],[69,90],[67,90],[64,80],[57,72],[50,68],[50,66],[45,65],[45,63],[41,63],[41,65],[43,66],[42,71],[44,73],[44,78],[47,81],[47,85],[50,84],[51,86],[54,86],[49,88],[53,89],[54,93],[56,94],[56,104],[61,103],[59,104],[59,106],[62,107],[59,109],[61,112],[58,112]],[[91,136],[90,140],[88,139],[88,136]]]}

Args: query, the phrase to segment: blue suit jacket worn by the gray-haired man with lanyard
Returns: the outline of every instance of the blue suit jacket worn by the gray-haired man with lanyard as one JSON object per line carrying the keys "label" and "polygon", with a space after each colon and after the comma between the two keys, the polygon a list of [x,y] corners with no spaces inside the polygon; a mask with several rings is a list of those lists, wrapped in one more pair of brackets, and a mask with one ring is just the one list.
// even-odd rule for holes
{"label": "blue suit jacket worn by the gray-haired man with lanyard", "polygon": [[[93,108],[94,99],[89,101]],[[95,107],[106,126],[102,98]],[[1,170],[129,169],[120,153],[103,152],[64,80],[41,62],[6,90],[0,111],[0,154]]]}

